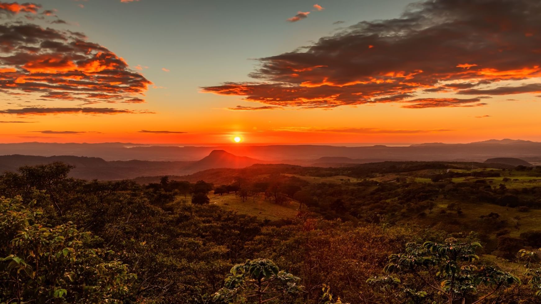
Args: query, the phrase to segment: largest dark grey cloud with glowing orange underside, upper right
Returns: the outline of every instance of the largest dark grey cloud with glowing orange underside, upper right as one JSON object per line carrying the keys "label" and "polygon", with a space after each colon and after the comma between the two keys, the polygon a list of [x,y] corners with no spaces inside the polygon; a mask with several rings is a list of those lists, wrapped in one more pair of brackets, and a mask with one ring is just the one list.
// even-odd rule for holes
{"label": "largest dark grey cloud with glowing orange underside, upper right", "polygon": [[[249,74],[253,82],[202,92],[304,109],[388,102],[480,106],[436,94],[541,77],[539,45],[538,0],[431,0],[408,6],[399,18],[363,21],[312,45],[260,58]],[[432,99],[425,102],[407,97],[428,93]]]}

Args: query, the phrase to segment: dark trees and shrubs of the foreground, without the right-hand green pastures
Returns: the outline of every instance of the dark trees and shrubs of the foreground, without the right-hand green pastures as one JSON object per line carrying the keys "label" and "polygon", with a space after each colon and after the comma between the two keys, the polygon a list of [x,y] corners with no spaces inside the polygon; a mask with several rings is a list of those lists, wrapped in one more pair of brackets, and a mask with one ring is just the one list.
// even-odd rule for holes
{"label": "dark trees and shrubs of the foreground, without the right-hand green pastures", "polygon": [[[437,195],[437,185],[308,184],[269,174],[225,186],[169,179],[141,186],[68,178],[69,170],[54,163],[0,175],[0,302],[539,301],[537,251],[519,254],[525,274],[509,273],[477,259],[476,233],[447,239],[362,209],[376,201],[387,208],[393,197],[397,214]],[[227,186],[264,189],[258,193],[272,194],[269,201],[273,193],[305,196],[309,208],[270,222],[192,202]]]}

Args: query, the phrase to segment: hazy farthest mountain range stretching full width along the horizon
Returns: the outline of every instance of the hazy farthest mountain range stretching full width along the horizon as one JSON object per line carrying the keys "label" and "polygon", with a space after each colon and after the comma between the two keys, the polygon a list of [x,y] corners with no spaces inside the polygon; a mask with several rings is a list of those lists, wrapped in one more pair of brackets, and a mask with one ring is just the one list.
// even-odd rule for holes
{"label": "hazy farthest mountain range stretching full width along the horizon", "polygon": [[[489,158],[520,158],[532,162],[541,158],[541,143],[529,140],[486,140],[470,144],[427,143],[410,146],[331,146],[331,145],[231,145],[231,146],[151,146],[126,143],[102,144],[0,144],[0,155],[85,156],[105,161],[197,161],[213,150],[226,150],[260,162],[297,165],[368,163],[380,160],[485,161]],[[329,161],[325,157],[342,158]],[[324,159],[322,159],[324,158]],[[536,160],[537,162],[537,160]],[[179,164],[180,165],[180,164]]]}

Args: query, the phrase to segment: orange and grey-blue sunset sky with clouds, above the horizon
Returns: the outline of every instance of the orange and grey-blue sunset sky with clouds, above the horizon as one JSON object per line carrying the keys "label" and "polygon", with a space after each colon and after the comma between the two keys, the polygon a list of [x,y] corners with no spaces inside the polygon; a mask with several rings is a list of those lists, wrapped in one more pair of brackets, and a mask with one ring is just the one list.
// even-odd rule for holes
{"label": "orange and grey-blue sunset sky with clouds, above the horizon", "polygon": [[0,0],[0,142],[541,141],[537,0]]}

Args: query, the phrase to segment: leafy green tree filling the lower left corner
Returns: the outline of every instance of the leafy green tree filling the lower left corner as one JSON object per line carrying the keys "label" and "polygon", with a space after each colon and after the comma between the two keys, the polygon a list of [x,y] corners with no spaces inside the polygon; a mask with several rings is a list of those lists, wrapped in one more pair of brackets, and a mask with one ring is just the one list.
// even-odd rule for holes
{"label": "leafy green tree filling the lower left corner", "polygon": [[[33,204],[31,204],[33,205]],[[121,303],[135,275],[75,225],[51,226],[40,210],[0,200],[0,298],[27,303]],[[30,301],[29,301],[30,300]]]}

